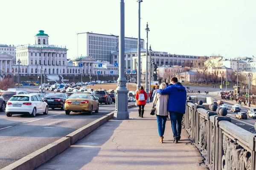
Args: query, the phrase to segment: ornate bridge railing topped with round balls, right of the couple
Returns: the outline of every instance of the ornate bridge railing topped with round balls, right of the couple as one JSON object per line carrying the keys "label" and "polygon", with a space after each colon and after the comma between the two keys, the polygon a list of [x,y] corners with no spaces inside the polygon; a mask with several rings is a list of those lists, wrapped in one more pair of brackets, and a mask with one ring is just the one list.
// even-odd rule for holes
{"label": "ornate bridge railing topped with round balls, right of the couple", "polygon": [[214,104],[209,108],[187,100],[183,120],[209,169],[256,170],[256,134],[231,123],[224,108]]}

